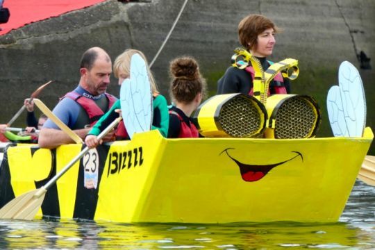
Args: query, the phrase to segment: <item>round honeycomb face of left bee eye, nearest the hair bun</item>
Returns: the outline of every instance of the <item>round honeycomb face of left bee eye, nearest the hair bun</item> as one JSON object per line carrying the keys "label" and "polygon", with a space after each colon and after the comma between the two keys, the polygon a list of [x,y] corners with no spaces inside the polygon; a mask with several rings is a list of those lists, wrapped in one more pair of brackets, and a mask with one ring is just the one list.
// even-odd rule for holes
{"label": "round honeycomb face of left bee eye, nearest the hair bun", "polygon": [[256,105],[255,101],[242,96],[224,103],[218,118],[225,133],[235,138],[248,138],[259,133],[265,117]]}

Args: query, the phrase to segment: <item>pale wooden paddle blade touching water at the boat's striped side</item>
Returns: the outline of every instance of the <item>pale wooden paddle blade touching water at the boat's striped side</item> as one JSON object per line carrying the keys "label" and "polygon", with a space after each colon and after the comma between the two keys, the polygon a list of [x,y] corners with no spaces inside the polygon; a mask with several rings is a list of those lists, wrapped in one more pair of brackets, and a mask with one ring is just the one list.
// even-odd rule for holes
{"label": "pale wooden paddle blade touching water at the boat's striped side", "polygon": [[33,219],[42,206],[46,192],[40,188],[15,197],[0,209],[0,219]]}

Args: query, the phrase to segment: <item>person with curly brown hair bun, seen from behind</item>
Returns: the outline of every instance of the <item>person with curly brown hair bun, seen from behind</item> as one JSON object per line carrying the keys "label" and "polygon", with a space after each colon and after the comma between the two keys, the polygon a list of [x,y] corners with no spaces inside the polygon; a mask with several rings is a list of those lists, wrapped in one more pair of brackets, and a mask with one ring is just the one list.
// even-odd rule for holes
{"label": "person with curly brown hair bun, seen from behind", "polygon": [[199,72],[197,61],[191,57],[172,60],[169,94],[174,106],[169,108],[168,138],[198,138],[198,129],[190,115],[201,103],[206,92],[206,80]]}

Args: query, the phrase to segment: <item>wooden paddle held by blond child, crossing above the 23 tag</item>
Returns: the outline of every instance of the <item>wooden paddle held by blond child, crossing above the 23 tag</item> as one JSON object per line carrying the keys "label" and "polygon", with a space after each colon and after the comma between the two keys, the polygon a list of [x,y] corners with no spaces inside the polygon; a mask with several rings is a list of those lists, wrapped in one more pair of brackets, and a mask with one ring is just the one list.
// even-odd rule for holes
{"label": "wooden paddle held by blond child, crossing above the 23 tag", "polygon": [[[106,129],[104,129],[100,135],[98,135],[98,140],[101,140],[110,130],[112,130],[120,121],[122,117],[118,117],[113,121]],[[36,213],[42,206],[44,196],[47,190],[56,183],[56,181],[65,174],[78,160],[80,160],[85,153],[90,149],[85,147],[78,155],[73,158],[56,176],[51,178],[51,180],[42,188],[26,192],[12,201],[9,201],[0,210],[0,219],[26,219],[31,220],[35,217]]]}

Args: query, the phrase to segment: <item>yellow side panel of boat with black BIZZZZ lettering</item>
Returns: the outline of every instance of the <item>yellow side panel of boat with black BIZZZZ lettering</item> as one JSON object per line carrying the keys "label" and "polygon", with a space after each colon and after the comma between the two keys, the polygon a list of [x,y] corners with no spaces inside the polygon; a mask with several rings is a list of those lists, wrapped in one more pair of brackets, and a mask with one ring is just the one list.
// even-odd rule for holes
{"label": "yellow side panel of boat with black BIZZZZ lettering", "polygon": [[[99,201],[94,219],[131,222],[138,217],[158,171],[158,156],[163,153],[161,140],[158,131],[150,131],[136,134],[131,142],[115,142],[111,145],[101,176]],[[130,168],[129,151],[132,155]]]}

